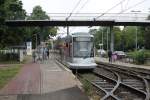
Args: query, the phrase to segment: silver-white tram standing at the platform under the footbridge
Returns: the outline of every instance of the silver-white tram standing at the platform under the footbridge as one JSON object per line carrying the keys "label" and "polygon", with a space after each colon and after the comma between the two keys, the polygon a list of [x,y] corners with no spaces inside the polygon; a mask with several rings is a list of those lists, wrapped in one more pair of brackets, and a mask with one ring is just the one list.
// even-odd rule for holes
{"label": "silver-white tram standing at the platform under the footbridge", "polygon": [[93,35],[89,33],[73,33],[59,38],[60,59],[70,69],[94,69]]}

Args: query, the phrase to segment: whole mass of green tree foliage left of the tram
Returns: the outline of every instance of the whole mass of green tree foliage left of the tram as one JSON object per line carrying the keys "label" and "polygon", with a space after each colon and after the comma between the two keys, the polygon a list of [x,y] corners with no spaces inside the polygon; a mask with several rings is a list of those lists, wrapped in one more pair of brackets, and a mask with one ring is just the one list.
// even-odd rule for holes
{"label": "whole mass of green tree foliage left of the tram", "polygon": [[[54,36],[57,33],[57,27],[6,27],[5,20],[24,20],[26,11],[22,7],[21,0],[1,0],[0,1],[0,48],[9,47],[12,45],[23,45],[27,40],[33,40],[35,48],[37,34],[38,44],[40,41],[48,39],[49,34]],[[31,16],[28,20],[49,20],[49,16],[40,6],[33,8]]]}

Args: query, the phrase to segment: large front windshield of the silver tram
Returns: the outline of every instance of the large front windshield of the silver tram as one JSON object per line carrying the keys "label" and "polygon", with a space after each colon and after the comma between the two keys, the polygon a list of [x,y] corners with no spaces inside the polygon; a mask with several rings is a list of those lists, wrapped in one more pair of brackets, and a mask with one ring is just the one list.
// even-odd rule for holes
{"label": "large front windshield of the silver tram", "polygon": [[93,38],[92,37],[75,37],[73,39],[74,57],[93,57]]}

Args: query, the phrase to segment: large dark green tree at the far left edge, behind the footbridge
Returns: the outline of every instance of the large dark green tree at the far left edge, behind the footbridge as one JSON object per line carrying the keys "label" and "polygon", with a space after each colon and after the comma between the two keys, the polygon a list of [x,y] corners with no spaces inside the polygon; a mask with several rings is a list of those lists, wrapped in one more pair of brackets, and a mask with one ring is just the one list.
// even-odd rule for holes
{"label": "large dark green tree at the far left edge, behind the footbridge", "polygon": [[[1,0],[0,12],[1,18],[4,20],[15,20],[15,19],[25,19],[26,12],[22,8],[22,2],[19,0]],[[24,28],[12,28],[1,25],[0,28],[3,29],[0,36],[0,48],[4,48],[10,45],[20,45],[24,42]],[[2,30],[1,30],[2,31]]]}

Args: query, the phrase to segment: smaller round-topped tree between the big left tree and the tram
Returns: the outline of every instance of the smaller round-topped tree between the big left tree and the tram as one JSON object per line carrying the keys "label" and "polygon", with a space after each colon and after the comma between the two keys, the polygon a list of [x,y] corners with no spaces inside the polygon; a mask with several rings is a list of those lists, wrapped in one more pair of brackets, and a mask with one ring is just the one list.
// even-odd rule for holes
{"label": "smaller round-topped tree between the big left tree and the tram", "polygon": [[[50,20],[49,16],[40,6],[33,8],[32,14],[28,16],[28,20]],[[32,35],[32,45],[35,48],[35,38],[38,38],[38,44],[41,41],[46,41],[49,35],[56,35],[57,27],[32,27],[30,28],[30,34]],[[35,35],[36,34],[36,35]],[[36,37],[37,36],[37,37]]]}

